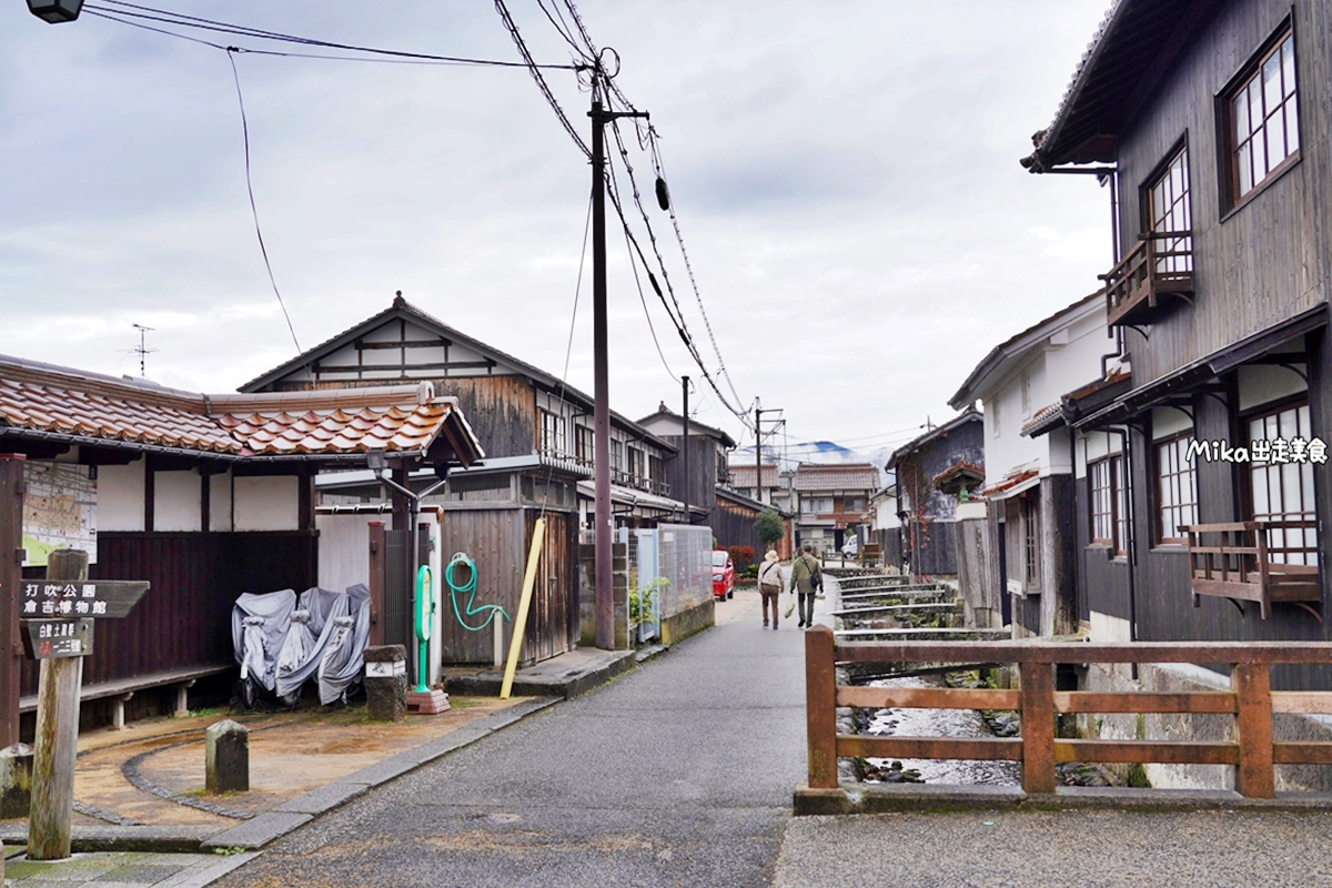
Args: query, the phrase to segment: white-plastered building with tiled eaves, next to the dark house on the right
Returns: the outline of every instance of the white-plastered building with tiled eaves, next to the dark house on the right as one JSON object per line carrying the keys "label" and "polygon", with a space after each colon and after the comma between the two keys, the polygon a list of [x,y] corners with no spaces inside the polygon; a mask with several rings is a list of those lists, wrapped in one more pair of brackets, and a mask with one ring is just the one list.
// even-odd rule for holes
{"label": "white-plastered building with tiled eaves, next to the dark house on the right", "polygon": [[1078,628],[1072,439],[1024,430],[1059,409],[1070,382],[1124,373],[1104,366],[1115,351],[1107,332],[1106,298],[1092,293],[996,345],[948,401],[956,410],[979,401],[984,415],[983,567],[960,591],[1019,636]]}

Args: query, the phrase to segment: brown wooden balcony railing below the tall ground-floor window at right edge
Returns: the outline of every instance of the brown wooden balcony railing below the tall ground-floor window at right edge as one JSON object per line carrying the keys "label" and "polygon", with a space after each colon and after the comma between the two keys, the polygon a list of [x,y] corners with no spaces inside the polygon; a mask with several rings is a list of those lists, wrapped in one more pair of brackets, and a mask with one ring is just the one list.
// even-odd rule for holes
{"label": "brown wooden balcony railing below the tall ground-floor window at right edge", "polygon": [[[1201,595],[1219,595],[1241,602],[1257,602],[1263,619],[1272,615],[1273,602],[1292,602],[1305,607],[1321,622],[1321,614],[1309,604],[1320,602],[1317,564],[1288,563],[1309,553],[1299,546],[1273,545],[1284,539],[1281,531],[1307,531],[1312,519],[1245,521],[1224,525],[1188,525],[1188,566],[1193,588],[1193,607]],[[1276,531],[1273,534],[1273,531]],[[1300,534],[1301,539],[1304,534]]]}

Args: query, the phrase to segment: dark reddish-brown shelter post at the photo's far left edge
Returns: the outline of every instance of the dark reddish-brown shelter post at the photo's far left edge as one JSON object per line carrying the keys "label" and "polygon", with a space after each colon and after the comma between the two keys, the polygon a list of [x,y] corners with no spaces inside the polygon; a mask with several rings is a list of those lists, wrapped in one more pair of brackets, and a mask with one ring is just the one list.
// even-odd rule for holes
{"label": "dark reddish-brown shelter post at the photo's far left edge", "polygon": [[23,465],[0,455],[0,750],[19,742],[19,584],[23,579]]}

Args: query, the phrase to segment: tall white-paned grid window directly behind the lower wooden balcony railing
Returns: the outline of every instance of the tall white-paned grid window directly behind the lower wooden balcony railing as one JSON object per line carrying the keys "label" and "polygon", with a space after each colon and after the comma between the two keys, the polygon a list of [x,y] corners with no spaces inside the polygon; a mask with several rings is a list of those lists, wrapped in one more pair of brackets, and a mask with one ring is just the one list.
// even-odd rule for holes
{"label": "tall white-paned grid window directly behind the lower wooden balcony railing", "polygon": [[[1313,515],[1313,466],[1304,462],[1273,462],[1265,442],[1313,437],[1309,405],[1289,405],[1248,421],[1249,485],[1253,521],[1273,522],[1267,530],[1268,560],[1287,564],[1317,564],[1319,537]],[[1255,447],[1253,445],[1257,443]],[[1265,453],[1264,453],[1265,451]],[[1259,457],[1264,458],[1259,458]]]}

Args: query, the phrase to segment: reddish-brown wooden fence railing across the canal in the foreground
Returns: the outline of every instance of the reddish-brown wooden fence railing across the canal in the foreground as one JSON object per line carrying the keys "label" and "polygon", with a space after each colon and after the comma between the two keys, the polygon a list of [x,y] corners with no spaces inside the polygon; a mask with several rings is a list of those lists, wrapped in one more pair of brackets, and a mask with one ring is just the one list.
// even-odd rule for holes
{"label": "reddish-brown wooden fence railing across the canal in the foreground", "polygon": [[[1020,690],[886,688],[836,684],[836,663],[1016,663]],[[1229,691],[1055,691],[1056,663],[1231,664]],[[990,759],[1022,763],[1027,792],[1055,791],[1055,763],[1228,764],[1240,795],[1271,799],[1276,764],[1332,764],[1332,742],[1273,742],[1272,714],[1332,712],[1332,691],[1272,691],[1273,663],[1332,663],[1325,642],[848,642],[832,630],[805,635],[809,785],[838,785],[836,760]],[[858,736],[836,732],[836,707],[1016,710],[1018,738]],[[1055,738],[1062,712],[1189,712],[1235,716],[1235,740],[1066,740]]]}

